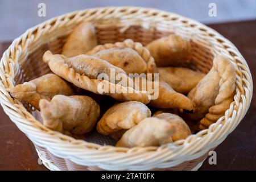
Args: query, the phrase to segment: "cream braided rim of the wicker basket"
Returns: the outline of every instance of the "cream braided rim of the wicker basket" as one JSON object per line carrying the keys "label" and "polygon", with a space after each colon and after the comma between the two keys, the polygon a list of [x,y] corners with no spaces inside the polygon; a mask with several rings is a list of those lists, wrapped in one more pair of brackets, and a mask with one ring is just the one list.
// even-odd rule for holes
{"label": "cream braided rim of the wicker basket", "polygon": [[[11,96],[7,92],[9,88],[6,88],[7,84],[13,84],[13,78],[15,75],[14,72],[14,63],[18,61],[19,56],[23,53],[24,49],[30,44],[32,39],[36,39],[36,36],[40,35],[40,31],[44,32],[49,30],[50,28],[54,28],[54,26],[57,23],[60,23],[61,20],[63,22],[61,23],[77,23],[80,22],[82,19],[85,18],[87,14],[92,13],[91,16],[87,16],[89,18],[93,18],[93,15],[97,14],[104,14],[106,11],[114,11],[121,13],[122,11],[128,13],[132,11],[137,11],[134,14],[142,13],[142,11],[147,11],[145,13],[145,16],[150,17],[150,14],[156,13],[157,15],[154,16],[159,18],[161,21],[170,21],[171,18],[177,17],[179,21],[187,21],[189,23],[193,23],[196,25],[196,27],[201,28],[202,31],[208,31],[210,34],[213,34],[214,37],[217,37],[216,39],[219,39],[221,41],[220,44],[222,45],[228,45],[228,51],[229,51],[229,57],[233,57],[233,60],[236,59],[239,61],[239,63],[236,63],[240,69],[237,69],[239,74],[236,74],[237,77],[239,77],[239,80],[237,81],[237,89],[236,89],[236,95],[234,96],[234,102],[230,105],[230,108],[226,110],[225,115],[218,119],[218,121],[214,124],[212,124],[209,129],[205,129],[200,131],[197,134],[190,135],[187,139],[184,140],[178,140],[174,143],[164,144],[160,147],[133,147],[133,148],[125,148],[125,147],[114,147],[114,146],[101,146],[100,144],[90,143],[86,142],[84,140],[77,140],[71,137],[68,137],[67,135],[58,133],[56,131],[52,131],[44,127],[39,121],[36,121],[36,119],[26,111],[26,109],[21,105],[19,102],[16,102],[18,104],[15,104],[15,102],[12,100]],[[114,14],[112,13],[112,14]],[[166,16],[167,15],[167,16]],[[70,20],[69,17],[73,18]],[[126,16],[125,14],[122,14],[122,16]],[[135,16],[135,15],[134,15]],[[138,17],[138,15],[137,15]],[[50,26],[50,24],[52,24]],[[36,34],[35,33],[36,30]],[[218,40],[216,40],[218,42]],[[230,53],[231,52],[231,53]],[[232,53],[235,53],[235,56],[232,55]],[[205,26],[202,23],[197,22],[196,20],[185,18],[184,16],[170,13],[167,11],[157,10],[157,9],[150,9],[150,8],[144,8],[144,7],[134,7],[134,6],[122,6],[122,7],[97,7],[93,9],[85,9],[85,10],[78,10],[73,11],[71,13],[63,14],[60,16],[56,16],[55,18],[51,18],[49,20],[46,20],[43,23],[38,24],[35,27],[29,28],[24,34],[16,38],[13,43],[10,45],[10,47],[3,53],[1,63],[0,63],[0,102],[3,107],[3,110],[7,115],[9,115],[10,119],[19,127],[20,130],[23,131],[23,133],[27,133],[26,131],[30,130],[31,134],[32,132],[40,134],[39,137],[35,137],[35,134],[30,135],[30,133],[27,133],[28,137],[31,139],[32,137],[35,137],[31,139],[35,144],[39,144],[43,147],[46,147],[49,151],[54,152],[54,148],[51,144],[56,144],[55,142],[42,142],[40,137],[45,137],[45,139],[55,139],[55,141],[59,141],[59,144],[61,145],[61,148],[72,148],[74,151],[82,149],[84,151],[93,151],[95,154],[99,152],[99,154],[122,154],[122,156],[125,154],[127,156],[130,156],[131,154],[150,154],[150,157],[154,156],[157,152],[158,154],[164,154],[166,151],[176,151],[176,150],[185,150],[189,147],[193,147],[194,152],[198,152],[199,150],[207,151],[209,148],[212,148],[213,146],[216,146],[217,144],[221,143],[222,140],[224,140],[229,133],[231,133],[238,123],[241,121],[243,116],[245,115],[246,111],[249,109],[249,105],[251,102],[252,94],[253,94],[253,82],[251,73],[249,70],[249,67],[241,55],[241,53],[238,51],[238,49],[234,46],[233,43],[231,43],[228,39],[224,38],[222,35],[220,35],[217,31],[213,30],[212,28],[209,28]],[[5,69],[7,68],[7,70]],[[242,82],[242,84],[240,83]],[[240,85],[241,84],[241,85]],[[236,108],[235,108],[236,107]],[[242,108],[243,107],[243,108]],[[224,119],[226,120],[224,122]],[[227,123],[232,122],[236,119],[237,123],[234,125],[228,125]],[[40,123],[40,124],[39,124]],[[42,126],[40,126],[42,125]],[[215,135],[216,133],[221,133],[221,135],[217,137],[212,137],[212,141],[209,142],[210,136]],[[208,136],[208,137],[207,137]],[[200,141],[199,141],[200,140]],[[89,145],[89,146],[88,146]],[[198,150],[195,149],[195,145],[199,146],[200,148]],[[57,146],[56,146],[57,147]],[[192,149],[191,149],[192,150]],[[191,152],[191,151],[190,151]],[[55,152],[54,152],[55,153]],[[65,152],[59,151],[59,154],[56,154],[57,156],[63,157],[61,154],[64,154]],[[86,152],[85,152],[86,153]],[[183,152],[183,156],[185,154],[188,154],[189,152]],[[171,154],[171,152],[169,153]],[[177,156],[177,155],[176,155]],[[72,155],[66,156],[67,158],[74,159]],[[194,155],[195,157],[195,155]],[[170,157],[171,158],[171,157]],[[193,157],[189,158],[192,159]],[[188,158],[187,158],[188,159]],[[98,161],[98,160],[95,160]]]}

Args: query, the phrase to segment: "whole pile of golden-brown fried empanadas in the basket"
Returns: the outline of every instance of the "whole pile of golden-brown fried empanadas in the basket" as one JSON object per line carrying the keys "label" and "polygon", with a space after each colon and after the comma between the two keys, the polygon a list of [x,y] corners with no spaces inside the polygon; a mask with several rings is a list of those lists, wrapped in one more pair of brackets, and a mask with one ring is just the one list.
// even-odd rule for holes
{"label": "whole pile of golden-brown fried empanadas in the basket", "polygon": [[[131,39],[98,45],[93,23],[82,22],[61,54],[44,53],[52,73],[16,85],[10,94],[63,134],[86,137],[96,129],[119,147],[160,146],[207,129],[233,102],[236,74],[228,57],[214,57],[205,75],[189,69],[191,52],[190,40],[177,35],[146,47]],[[146,86],[130,85],[132,73],[152,77],[141,78]],[[127,85],[112,80],[113,74]],[[99,89],[102,85],[107,89]]]}

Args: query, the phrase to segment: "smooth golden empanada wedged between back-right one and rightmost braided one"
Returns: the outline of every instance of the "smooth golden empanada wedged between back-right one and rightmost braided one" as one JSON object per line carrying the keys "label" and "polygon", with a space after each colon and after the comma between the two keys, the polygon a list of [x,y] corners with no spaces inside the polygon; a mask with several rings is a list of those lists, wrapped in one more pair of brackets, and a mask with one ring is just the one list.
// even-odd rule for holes
{"label": "smooth golden empanada wedged between back-right one and rightmost braided one", "polygon": [[159,75],[176,92],[188,94],[197,83],[205,76],[203,73],[181,67],[160,67]]}

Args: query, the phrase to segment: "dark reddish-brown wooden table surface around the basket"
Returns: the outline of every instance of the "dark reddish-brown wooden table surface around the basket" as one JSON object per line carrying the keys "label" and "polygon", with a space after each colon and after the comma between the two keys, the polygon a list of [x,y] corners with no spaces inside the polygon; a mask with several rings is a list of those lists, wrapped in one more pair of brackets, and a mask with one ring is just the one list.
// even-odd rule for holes
{"label": "dark reddish-brown wooden table surface around the basket", "polygon": [[[256,20],[210,24],[231,40],[249,64],[256,80]],[[0,43],[0,55],[10,42]],[[255,90],[254,90],[255,96]],[[256,98],[236,130],[216,148],[217,164],[205,160],[200,170],[256,170]],[[0,170],[47,170],[38,164],[38,155],[30,140],[0,109]]]}

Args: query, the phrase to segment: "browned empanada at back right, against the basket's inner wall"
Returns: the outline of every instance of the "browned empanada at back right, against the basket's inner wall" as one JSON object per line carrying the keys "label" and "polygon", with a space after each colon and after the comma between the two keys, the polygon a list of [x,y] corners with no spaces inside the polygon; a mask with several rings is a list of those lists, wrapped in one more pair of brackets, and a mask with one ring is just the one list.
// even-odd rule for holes
{"label": "browned empanada at back right, against the basket's inner wall", "polygon": [[191,44],[178,35],[156,39],[146,46],[158,67],[179,67],[189,64]]}

